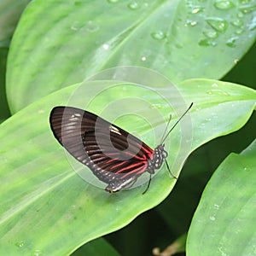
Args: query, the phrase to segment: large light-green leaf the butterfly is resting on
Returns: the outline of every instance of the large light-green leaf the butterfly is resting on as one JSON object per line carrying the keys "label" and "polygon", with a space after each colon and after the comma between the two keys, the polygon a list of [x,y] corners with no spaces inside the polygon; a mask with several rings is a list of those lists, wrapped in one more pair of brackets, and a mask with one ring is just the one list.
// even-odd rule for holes
{"label": "large light-green leaf the butterfly is resting on", "polygon": [[[90,91],[101,86],[106,88],[106,84],[112,87],[91,101]],[[188,142],[192,143],[189,151],[213,137],[236,131],[253,112],[255,91],[243,86],[201,79],[183,82],[178,89],[186,102],[195,102],[190,111],[194,137],[192,142]],[[168,96],[168,90],[163,88],[160,92]],[[75,92],[79,92],[77,103],[71,99]],[[154,110],[157,108],[167,119],[171,111],[169,105],[154,90],[115,81],[91,81],[85,86],[67,87],[33,103],[0,126],[1,255],[71,253],[84,242],[129,224],[138,214],[166,198],[176,182],[169,176],[166,167],[153,178],[145,195],[142,192],[146,185],[109,195],[103,189],[85,183],[72,170],[70,159],[67,155],[65,157],[65,151],[49,129],[49,111],[55,105],[69,102],[80,107],[84,102],[90,102],[88,109],[101,113],[109,102],[122,104],[126,97],[131,102],[132,96],[150,102],[149,106],[154,108],[142,108],[141,102],[133,102],[127,107],[137,109],[137,115],[121,117],[117,119],[117,124],[127,131],[139,133],[146,143],[154,147],[160,141],[166,122],[154,116]],[[171,94],[168,101],[176,101],[176,97]],[[111,106],[108,113],[119,111]],[[105,112],[103,116],[107,117],[108,113]],[[138,118],[138,115],[143,118]],[[150,125],[145,124],[145,117],[158,131],[155,143]],[[173,121],[176,118],[174,115]],[[187,119],[189,115],[181,122],[181,128]],[[173,166],[181,149],[182,137],[178,127],[171,137],[172,151],[169,152],[168,162]],[[167,146],[166,142],[169,151]],[[182,148],[189,154],[187,149]],[[183,154],[178,165],[172,169],[176,176],[187,154]],[[90,172],[86,168],[82,171]],[[146,174],[143,176],[148,179]]]}

